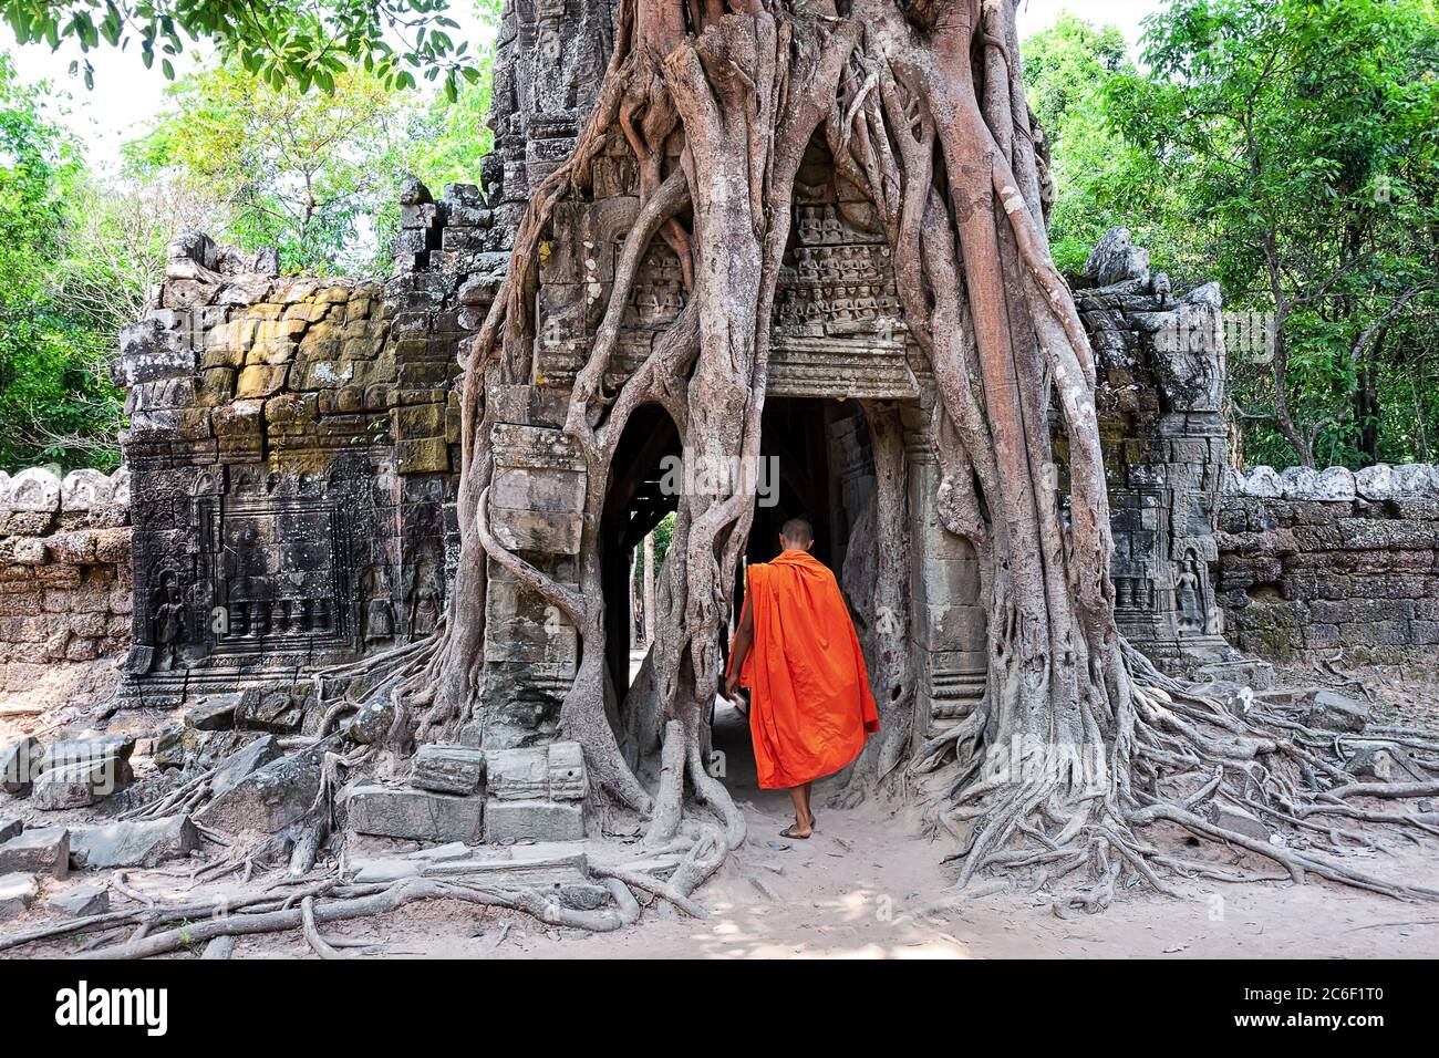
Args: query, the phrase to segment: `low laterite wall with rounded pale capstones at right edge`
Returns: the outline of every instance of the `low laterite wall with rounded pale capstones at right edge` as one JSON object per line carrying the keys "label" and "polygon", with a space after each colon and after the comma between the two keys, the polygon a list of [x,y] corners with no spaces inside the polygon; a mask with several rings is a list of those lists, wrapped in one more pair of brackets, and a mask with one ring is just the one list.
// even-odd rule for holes
{"label": "low laterite wall with rounded pale capstones at right edge", "polygon": [[1288,658],[1439,645],[1439,468],[1230,472],[1219,530],[1236,646]]}

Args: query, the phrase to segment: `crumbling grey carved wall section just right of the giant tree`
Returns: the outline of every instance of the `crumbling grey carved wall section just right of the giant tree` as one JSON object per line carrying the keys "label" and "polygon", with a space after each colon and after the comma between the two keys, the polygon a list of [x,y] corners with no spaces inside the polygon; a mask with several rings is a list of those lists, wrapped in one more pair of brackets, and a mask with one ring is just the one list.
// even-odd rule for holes
{"label": "crumbling grey carved wall section just right of the giant tree", "polygon": [[1222,675],[1239,658],[1210,579],[1226,465],[1219,284],[1174,295],[1122,227],[1095,246],[1084,282],[1075,302],[1097,357],[1115,619],[1160,664]]}

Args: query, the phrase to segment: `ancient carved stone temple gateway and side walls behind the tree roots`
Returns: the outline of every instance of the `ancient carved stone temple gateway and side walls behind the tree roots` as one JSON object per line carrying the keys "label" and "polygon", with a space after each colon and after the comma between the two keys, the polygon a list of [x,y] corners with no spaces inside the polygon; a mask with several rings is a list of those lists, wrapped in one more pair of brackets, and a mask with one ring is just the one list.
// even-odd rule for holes
{"label": "ancient carved stone temple gateway and side walls behind the tree roots", "polygon": [[[400,189],[391,278],[279,276],[273,255],[200,235],[171,248],[157,308],[125,331],[117,366],[131,416],[127,702],[305,687],[435,628],[458,547],[459,357],[495,295],[530,187],[573,145],[609,26],[603,0],[507,4],[482,184],[439,197],[416,181]],[[616,140],[594,164],[593,196],[557,210],[540,253],[532,377],[488,397],[499,409],[489,524],[561,582],[574,580],[586,471],[560,426],[637,210],[637,180]],[[983,689],[986,615],[974,550],[935,515],[932,380],[899,320],[872,206],[820,138],[794,210],[763,428],[774,475],[758,482],[750,559],[768,559],[794,514],[810,517],[816,554],[837,571],[873,547],[862,531],[876,485],[861,403],[894,403],[911,514],[915,730],[934,733]],[[1121,629],[1167,665],[1227,664],[1235,655],[1210,580],[1225,466],[1217,288],[1173,294],[1122,229],[1086,271],[1076,292],[1101,361]],[[656,239],[610,383],[640,363],[684,298],[679,259]],[[678,455],[668,416],[645,409],[609,484],[602,540],[620,695],[633,548],[673,510],[665,475]],[[1056,489],[1062,475],[1055,468]],[[489,573],[482,708],[465,738],[486,751],[543,744],[576,671],[577,638],[498,564]]]}

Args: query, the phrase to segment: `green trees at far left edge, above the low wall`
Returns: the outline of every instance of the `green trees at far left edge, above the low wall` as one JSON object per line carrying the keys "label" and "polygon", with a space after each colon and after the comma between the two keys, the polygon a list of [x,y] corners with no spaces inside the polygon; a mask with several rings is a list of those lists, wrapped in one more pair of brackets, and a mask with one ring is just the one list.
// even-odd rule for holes
{"label": "green trees at far left edge, above the low wall", "polygon": [[0,55],[0,466],[109,466],[119,399],[105,374],[108,335],[66,305],[58,282],[83,167],[43,102]]}

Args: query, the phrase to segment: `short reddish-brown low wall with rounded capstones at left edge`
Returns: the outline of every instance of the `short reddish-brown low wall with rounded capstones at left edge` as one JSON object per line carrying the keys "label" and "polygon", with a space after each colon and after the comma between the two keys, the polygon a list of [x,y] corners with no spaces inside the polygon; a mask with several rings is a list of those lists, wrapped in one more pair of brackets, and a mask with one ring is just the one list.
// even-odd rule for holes
{"label": "short reddish-brown low wall with rounded capstones at left edge", "polygon": [[0,689],[130,646],[130,471],[0,472]]}

